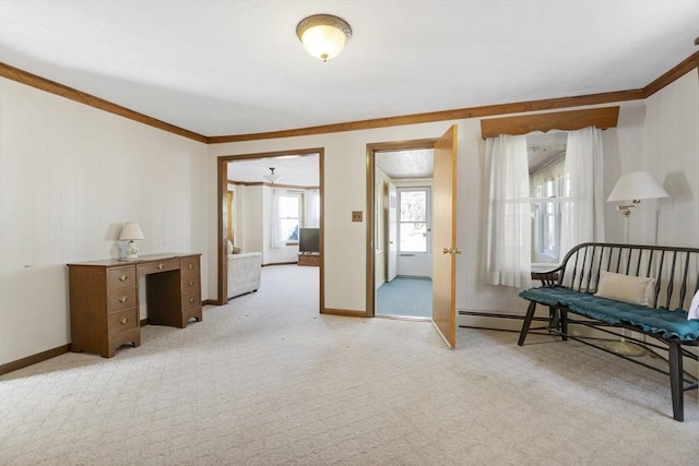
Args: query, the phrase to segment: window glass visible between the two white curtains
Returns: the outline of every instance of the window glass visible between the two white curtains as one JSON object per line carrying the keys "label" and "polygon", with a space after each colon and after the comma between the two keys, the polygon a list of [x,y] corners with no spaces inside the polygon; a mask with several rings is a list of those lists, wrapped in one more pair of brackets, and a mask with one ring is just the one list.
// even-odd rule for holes
{"label": "window glass visible between the two white curtains", "polygon": [[[564,133],[565,135],[566,133]],[[559,136],[560,138],[560,136]],[[566,142],[528,144],[532,205],[532,263],[558,263]]]}

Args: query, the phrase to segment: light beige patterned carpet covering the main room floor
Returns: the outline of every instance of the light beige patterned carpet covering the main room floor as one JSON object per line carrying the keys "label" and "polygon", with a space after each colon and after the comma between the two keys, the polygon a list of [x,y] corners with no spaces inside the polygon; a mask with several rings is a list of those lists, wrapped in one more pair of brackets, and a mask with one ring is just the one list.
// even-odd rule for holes
{"label": "light beige patterned carpet covering the main room floor", "polygon": [[112,359],[68,354],[1,377],[0,464],[699,457],[697,392],[676,422],[662,374],[547,336],[518,347],[513,333],[459,328],[449,350],[429,323],[319,315],[309,271],[265,267],[258,292],[185,330],[145,326],[142,346]]}

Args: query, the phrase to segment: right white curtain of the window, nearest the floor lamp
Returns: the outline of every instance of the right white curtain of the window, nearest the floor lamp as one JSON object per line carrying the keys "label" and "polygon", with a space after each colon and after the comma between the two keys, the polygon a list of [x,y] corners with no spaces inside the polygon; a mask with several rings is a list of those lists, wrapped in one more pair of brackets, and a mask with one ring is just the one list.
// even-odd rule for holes
{"label": "right white curtain of the window, nearest the floor lamp", "polygon": [[568,132],[560,214],[561,258],[574,246],[604,241],[602,131],[594,127]]}

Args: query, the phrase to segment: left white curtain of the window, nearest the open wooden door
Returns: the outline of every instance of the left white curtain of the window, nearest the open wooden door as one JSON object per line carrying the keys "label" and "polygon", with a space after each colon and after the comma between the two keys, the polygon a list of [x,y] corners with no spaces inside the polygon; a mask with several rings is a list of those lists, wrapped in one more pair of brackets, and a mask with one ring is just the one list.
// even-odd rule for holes
{"label": "left white curtain of the window, nearest the open wooden door", "polygon": [[530,288],[531,206],[526,138],[486,140],[486,277],[493,285]]}

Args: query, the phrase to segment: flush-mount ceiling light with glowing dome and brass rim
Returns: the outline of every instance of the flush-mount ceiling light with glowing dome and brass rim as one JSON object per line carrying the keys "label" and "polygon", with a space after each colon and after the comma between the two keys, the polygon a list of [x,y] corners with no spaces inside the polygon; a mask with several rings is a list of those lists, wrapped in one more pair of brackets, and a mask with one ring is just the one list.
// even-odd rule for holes
{"label": "flush-mount ceiling light with glowing dome and brass rim", "polygon": [[315,14],[298,23],[296,35],[308,53],[319,60],[328,61],[340,55],[347,39],[352,37],[352,28],[341,17],[332,14]]}

